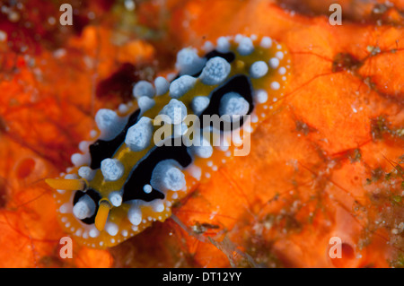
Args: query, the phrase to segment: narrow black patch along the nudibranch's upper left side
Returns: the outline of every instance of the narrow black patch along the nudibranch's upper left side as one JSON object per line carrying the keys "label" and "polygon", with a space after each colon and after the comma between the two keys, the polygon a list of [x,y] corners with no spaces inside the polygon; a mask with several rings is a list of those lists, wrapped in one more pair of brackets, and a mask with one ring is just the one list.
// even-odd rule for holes
{"label": "narrow black patch along the nudibranch's upper left side", "polygon": [[99,169],[101,167],[101,160],[112,158],[114,153],[118,150],[119,146],[124,143],[127,129],[134,126],[139,119],[140,109],[137,109],[128,119],[127,125],[123,130],[112,140],[97,140],[90,145],[90,154],[92,156],[91,169]]}

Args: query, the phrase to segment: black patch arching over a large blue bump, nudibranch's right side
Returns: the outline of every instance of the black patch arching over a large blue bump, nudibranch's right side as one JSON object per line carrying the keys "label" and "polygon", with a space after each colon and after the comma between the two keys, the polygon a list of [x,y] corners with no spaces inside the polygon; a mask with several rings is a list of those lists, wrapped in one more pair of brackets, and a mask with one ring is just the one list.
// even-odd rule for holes
{"label": "black patch arching over a large blue bump, nudibranch's right side", "polygon": [[[204,122],[204,115],[208,116],[217,115],[218,117],[220,117],[219,116],[220,100],[222,100],[224,94],[229,92],[239,93],[244,98],[244,100],[247,100],[247,102],[250,105],[247,114],[250,114],[252,112],[252,110],[254,109],[254,103],[252,100],[252,87],[250,80],[244,74],[234,75],[230,80],[228,80],[222,86],[219,86],[217,89],[215,89],[215,91],[212,92],[209,105],[199,116],[199,120],[201,122],[201,128],[206,127],[208,124],[212,126],[211,121]],[[238,126],[242,125],[243,125],[243,118],[241,118],[240,125]],[[224,130],[223,123],[220,125],[220,130],[221,131]],[[232,124],[232,130],[233,130],[233,124]]]}

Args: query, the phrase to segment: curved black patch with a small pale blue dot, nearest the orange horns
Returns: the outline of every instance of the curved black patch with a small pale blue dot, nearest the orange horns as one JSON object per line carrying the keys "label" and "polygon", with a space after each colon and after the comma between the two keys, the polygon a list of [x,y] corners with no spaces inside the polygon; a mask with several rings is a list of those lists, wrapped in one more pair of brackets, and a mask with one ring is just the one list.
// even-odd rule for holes
{"label": "curved black patch with a small pale blue dot, nearest the orange horns", "polygon": [[[175,146],[174,140],[178,139],[181,139],[181,144],[180,146]],[[187,146],[182,143],[182,138],[171,138],[171,146],[155,146],[147,157],[137,164],[125,183],[122,201],[143,200],[151,202],[155,199],[163,199],[164,194],[158,190],[153,188],[152,192],[146,194],[143,187],[150,184],[155,166],[160,161],[168,159],[176,160],[183,168],[186,168],[192,162]]]}

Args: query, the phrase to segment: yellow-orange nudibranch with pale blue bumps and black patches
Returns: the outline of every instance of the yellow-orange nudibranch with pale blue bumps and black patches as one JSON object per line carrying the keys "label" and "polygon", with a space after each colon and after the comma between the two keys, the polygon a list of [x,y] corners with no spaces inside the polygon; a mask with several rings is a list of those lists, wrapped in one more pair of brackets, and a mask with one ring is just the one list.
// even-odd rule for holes
{"label": "yellow-orange nudibranch with pale blue bumps and black patches", "polygon": [[47,179],[64,230],[105,248],[165,221],[198,182],[248,153],[250,134],[284,96],[290,65],[285,46],[269,37],[181,49],[175,78],[136,82],[133,101],[98,110],[74,167]]}

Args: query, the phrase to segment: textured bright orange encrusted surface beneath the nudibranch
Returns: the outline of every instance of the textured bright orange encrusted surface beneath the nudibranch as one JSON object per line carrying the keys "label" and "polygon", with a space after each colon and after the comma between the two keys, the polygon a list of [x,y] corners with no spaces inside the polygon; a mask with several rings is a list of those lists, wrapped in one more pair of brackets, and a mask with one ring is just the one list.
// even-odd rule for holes
{"label": "textured bright orange encrusted surface beneath the nudibranch", "polygon": [[[31,9],[57,19],[57,1],[35,2],[13,8],[16,22],[0,18],[0,266],[403,266],[402,2],[340,1],[343,25],[330,26],[319,1],[171,0],[133,12],[77,1],[73,28]],[[198,186],[175,220],[60,258],[65,234],[43,179],[69,167],[94,112],[171,72],[180,48],[237,33],[268,35],[292,54],[285,99],[250,155]],[[343,258],[329,258],[331,237]]]}

